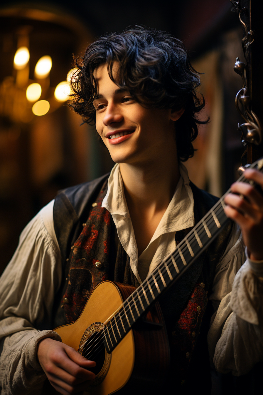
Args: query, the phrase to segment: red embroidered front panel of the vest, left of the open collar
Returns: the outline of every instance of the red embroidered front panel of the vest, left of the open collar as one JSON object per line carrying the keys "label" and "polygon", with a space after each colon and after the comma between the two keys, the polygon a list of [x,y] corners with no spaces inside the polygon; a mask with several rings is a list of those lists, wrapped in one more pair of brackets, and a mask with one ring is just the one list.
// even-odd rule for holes
{"label": "red embroidered front panel of the vest, left of the open collar", "polygon": [[[93,288],[108,279],[110,246],[110,213],[101,208],[106,195],[103,186],[96,200],[97,205],[90,211],[86,226],[76,240],[69,266],[69,282],[63,298],[65,315],[68,323],[80,316]],[[96,267],[96,262],[101,263]]]}

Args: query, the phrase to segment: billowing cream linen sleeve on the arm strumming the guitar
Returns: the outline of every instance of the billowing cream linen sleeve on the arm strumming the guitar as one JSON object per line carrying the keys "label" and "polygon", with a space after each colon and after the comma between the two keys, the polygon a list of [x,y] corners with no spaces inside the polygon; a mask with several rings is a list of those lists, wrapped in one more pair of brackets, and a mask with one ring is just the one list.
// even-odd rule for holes
{"label": "billowing cream linen sleeve on the arm strumming the guitar", "polygon": [[38,393],[45,374],[37,361],[37,343],[44,337],[61,340],[50,330],[62,278],[53,205],[45,206],[22,231],[0,278],[1,395]]}

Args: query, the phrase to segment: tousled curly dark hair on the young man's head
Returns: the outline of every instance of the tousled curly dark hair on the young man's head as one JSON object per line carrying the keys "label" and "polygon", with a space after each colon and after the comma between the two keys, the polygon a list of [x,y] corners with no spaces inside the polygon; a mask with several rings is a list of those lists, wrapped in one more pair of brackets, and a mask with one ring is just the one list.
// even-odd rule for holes
{"label": "tousled curly dark hair on the young man's head", "polygon": [[[114,62],[119,63],[113,76]],[[196,114],[204,107],[203,95],[197,95],[200,77],[191,66],[185,45],[160,30],[132,25],[121,34],[107,33],[91,43],[85,55],[75,59],[78,69],[71,78],[73,94],[69,105],[82,115],[84,122],[94,124],[93,100],[97,95],[94,70],[107,64],[112,81],[129,90],[140,104],[157,108],[184,108],[175,122],[178,156],[182,161],[194,155],[192,141],[198,135]]]}

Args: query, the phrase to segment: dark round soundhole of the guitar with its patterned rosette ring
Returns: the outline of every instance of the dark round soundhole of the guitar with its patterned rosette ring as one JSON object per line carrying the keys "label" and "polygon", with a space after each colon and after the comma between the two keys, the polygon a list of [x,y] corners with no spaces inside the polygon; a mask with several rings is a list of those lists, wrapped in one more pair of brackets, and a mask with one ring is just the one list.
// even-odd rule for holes
{"label": "dark round soundhole of the guitar with its patterned rosette ring", "polygon": [[101,327],[101,322],[95,322],[84,332],[80,341],[79,353],[90,361],[95,361],[96,366],[90,370],[96,374],[92,386],[99,385],[110,367],[111,354],[106,352],[103,344],[103,334],[97,329]]}

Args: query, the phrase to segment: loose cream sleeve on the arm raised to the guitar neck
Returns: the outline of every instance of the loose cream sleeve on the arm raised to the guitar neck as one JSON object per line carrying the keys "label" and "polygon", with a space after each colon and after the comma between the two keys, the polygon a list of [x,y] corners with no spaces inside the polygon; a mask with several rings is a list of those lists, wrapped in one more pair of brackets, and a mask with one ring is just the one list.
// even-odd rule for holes
{"label": "loose cream sleeve on the arm raised to the guitar neck", "polygon": [[[244,264],[243,264],[244,263]],[[218,372],[248,373],[263,360],[263,261],[251,261],[238,226],[216,267],[209,354]]]}

